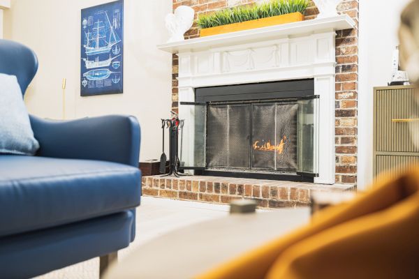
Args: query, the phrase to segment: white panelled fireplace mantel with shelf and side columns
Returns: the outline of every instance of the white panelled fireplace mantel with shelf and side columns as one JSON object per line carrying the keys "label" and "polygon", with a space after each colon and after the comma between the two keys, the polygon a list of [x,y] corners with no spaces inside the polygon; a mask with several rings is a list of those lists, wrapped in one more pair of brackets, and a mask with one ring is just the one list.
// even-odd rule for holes
{"label": "white panelled fireplace mantel with shelf and side columns", "polygon": [[[352,29],[348,15],[282,24],[159,45],[179,56],[179,103],[193,102],[204,86],[313,78],[320,96],[319,177],[335,183],[335,36]],[[181,118],[192,119],[191,106],[179,105]],[[193,133],[185,127],[185,142]],[[193,148],[184,154],[193,158]]]}

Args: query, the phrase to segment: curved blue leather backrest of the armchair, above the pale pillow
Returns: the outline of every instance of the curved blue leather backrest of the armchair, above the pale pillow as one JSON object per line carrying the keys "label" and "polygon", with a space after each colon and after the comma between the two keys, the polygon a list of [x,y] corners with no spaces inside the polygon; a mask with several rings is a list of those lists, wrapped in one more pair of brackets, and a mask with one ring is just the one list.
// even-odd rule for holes
{"label": "curved blue leather backrest of the armchair, above the pale pillow", "polygon": [[23,95],[37,70],[35,52],[20,43],[0,39],[0,73],[15,75]]}

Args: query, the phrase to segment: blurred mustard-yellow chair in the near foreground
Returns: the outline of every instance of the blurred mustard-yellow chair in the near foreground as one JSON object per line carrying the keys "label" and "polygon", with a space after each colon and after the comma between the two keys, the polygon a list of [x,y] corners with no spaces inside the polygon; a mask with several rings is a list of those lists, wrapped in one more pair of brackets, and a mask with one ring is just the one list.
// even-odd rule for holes
{"label": "blurred mustard-yellow chair in the near foreground", "polygon": [[419,169],[197,278],[419,278]]}

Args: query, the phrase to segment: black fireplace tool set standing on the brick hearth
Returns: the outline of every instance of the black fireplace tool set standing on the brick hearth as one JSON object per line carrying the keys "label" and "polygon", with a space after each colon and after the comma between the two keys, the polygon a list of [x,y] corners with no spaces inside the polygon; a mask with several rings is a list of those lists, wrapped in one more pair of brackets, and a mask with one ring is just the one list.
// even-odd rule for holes
{"label": "black fireplace tool set standing on the brick hearth", "polygon": [[[171,119],[161,119],[161,129],[163,130],[163,154],[160,158],[160,173],[165,174],[164,176],[174,175],[176,177],[184,176],[179,172],[180,160],[179,160],[179,130],[181,133],[181,146],[182,149],[182,140],[183,140],[183,128],[184,120],[179,119],[179,116],[176,112],[171,112]],[[164,134],[165,129],[169,130],[169,172],[166,174],[166,154],[164,153]],[[182,155],[181,155],[182,157]]]}

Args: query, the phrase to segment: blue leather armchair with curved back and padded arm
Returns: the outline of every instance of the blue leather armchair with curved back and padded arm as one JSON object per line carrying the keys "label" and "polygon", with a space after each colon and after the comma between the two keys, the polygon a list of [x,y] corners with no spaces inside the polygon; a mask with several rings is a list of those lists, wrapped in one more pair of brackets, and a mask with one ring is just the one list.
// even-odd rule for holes
{"label": "blue leather armchair with curved back and padded arm", "polygon": [[[16,75],[22,92],[37,69],[29,48],[0,40],[0,73]],[[138,121],[31,116],[31,126],[36,156],[0,154],[0,278],[31,278],[93,257],[105,266],[135,236]]]}

